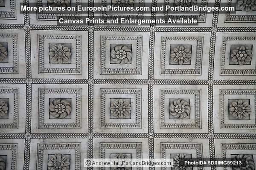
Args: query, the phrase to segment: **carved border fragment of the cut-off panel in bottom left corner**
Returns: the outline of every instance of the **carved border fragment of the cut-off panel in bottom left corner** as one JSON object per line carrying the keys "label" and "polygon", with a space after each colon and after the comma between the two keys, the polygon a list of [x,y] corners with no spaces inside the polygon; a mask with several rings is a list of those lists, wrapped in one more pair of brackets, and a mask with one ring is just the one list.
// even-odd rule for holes
{"label": "carved border fragment of the cut-off panel in bottom left corner", "polygon": [[16,170],[17,165],[17,147],[18,144],[0,144],[0,153],[1,150],[12,150],[12,162],[11,162],[11,170]]}

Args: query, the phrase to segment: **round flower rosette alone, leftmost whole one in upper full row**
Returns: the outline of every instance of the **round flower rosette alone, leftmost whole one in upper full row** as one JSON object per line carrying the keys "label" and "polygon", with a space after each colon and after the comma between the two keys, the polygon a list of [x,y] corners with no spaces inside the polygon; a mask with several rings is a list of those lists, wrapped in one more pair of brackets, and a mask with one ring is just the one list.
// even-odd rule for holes
{"label": "round flower rosette alone, leftmost whole one in upper full row", "polygon": [[70,49],[64,44],[57,44],[49,49],[49,57],[55,63],[67,63],[70,60]]}

